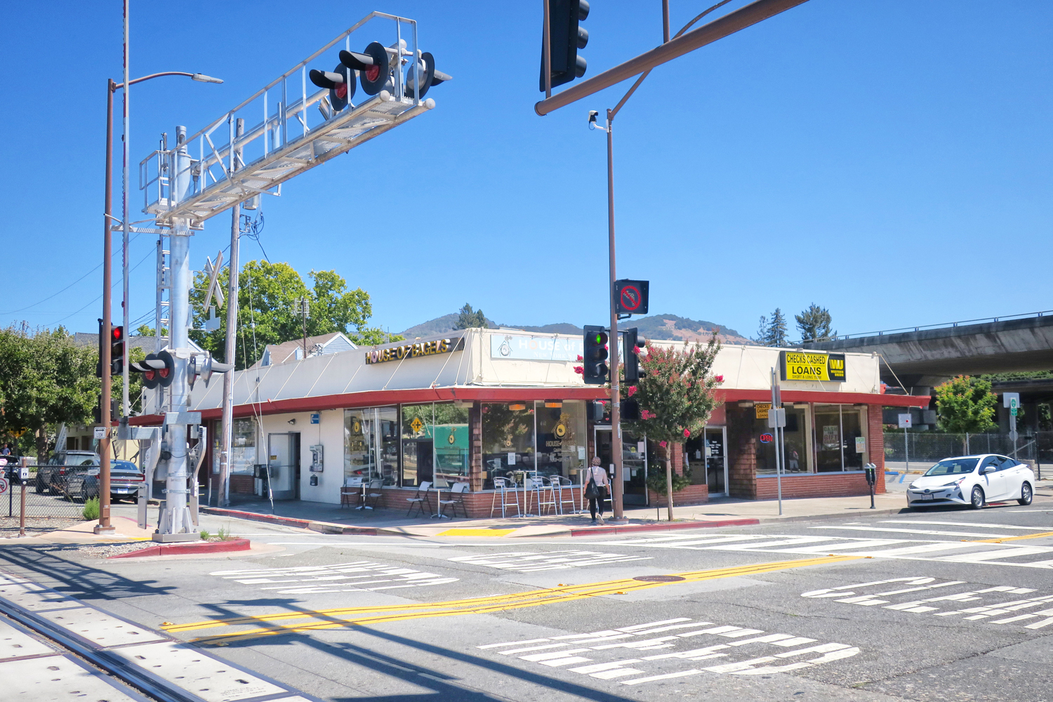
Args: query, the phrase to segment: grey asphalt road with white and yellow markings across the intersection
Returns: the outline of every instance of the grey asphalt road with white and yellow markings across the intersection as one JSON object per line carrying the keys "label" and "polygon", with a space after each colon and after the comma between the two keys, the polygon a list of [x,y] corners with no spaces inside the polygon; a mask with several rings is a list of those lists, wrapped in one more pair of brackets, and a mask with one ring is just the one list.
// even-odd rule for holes
{"label": "grey asphalt road with white and yellow markings across the intersection", "polygon": [[1048,503],[538,540],[233,526],[272,550],[0,566],[332,700],[1053,699]]}

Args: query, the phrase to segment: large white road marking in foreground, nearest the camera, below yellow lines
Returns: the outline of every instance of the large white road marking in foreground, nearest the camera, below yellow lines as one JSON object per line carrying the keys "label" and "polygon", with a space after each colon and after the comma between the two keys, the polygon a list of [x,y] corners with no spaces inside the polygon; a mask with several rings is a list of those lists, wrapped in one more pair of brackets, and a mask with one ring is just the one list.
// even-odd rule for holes
{"label": "large white road marking in foreground, nearest the camera, below yellow lines", "polygon": [[[772,675],[859,654],[859,648],[845,643],[824,643],[793,634],[768,634],[690,617],[585,634],[488,643],[477,648],[630,686],[702,673]],[[700,661],[707,663],[699,664]]]}

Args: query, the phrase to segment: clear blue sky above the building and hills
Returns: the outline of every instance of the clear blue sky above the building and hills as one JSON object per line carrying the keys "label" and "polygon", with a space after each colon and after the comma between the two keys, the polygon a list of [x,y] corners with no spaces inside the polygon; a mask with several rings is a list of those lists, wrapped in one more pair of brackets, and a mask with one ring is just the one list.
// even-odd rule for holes
{"label": "clear blue sky above the building and hills", "polygon": [[[709,2],[671,4],[675,31]],[[94,330],[101,315],[88,304],[101,269],[34,303],[101,258],[120,7],[0,7],[2,323]],[[335,268],[392,330],[465,301],[503,323],[608,319],[604,139],[585,125],[629,84],[534,115],[539,1],[174,8],[133,1],[133,76],[225,83],[133,87],[134,163],[161,132],[197,131],[367,12],[412,17],[454,80],[430,94],[433,112],[269,198],[271,260]],[[660,42],[660,3],[594,0],[585,25],[596,75]],[[759,315],[813,301],[841,333],[1053,307],[1051,65],[1053,4],[1031,0],[811,0],[665,64],[617,120],[619,277],[651,280],[652,312],[747,335]],[[355,190],[379,174],[388,193]],[[212,220],[194,267],[229,238],[230,218]],[[133,264],[146,259],[133,318],[154,304],[153,250],[148,235],[132,246]],[[243,260],[259,257],[245,241]]]}

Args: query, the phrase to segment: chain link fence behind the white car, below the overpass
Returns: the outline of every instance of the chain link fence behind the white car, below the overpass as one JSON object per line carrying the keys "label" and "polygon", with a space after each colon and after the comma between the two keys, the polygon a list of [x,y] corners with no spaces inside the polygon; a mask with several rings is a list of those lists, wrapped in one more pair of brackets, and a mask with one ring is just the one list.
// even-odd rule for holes
{"label": "chain link fence behind the white car, below the overpass", "polygon": [[1015,447],[1008,434],[885,433],[885,460],[893,468],[906,465],[908,459],[912,469],[920,469],[950,456],[971,454],[1011,456],[1039,473],[1044,463],[1053,463],[1053,432],[1020,434]]}

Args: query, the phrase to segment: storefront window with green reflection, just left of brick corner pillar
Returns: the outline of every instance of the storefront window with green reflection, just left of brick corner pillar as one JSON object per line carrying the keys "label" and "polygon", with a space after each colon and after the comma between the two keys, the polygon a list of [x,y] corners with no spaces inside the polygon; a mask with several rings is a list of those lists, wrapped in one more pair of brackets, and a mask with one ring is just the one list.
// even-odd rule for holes
{"label": "storefront window with green reflection, just left of brick corner pillar", "polygon": [[402,487],[468,478],[468,408],[452,402],[402,405]]}

